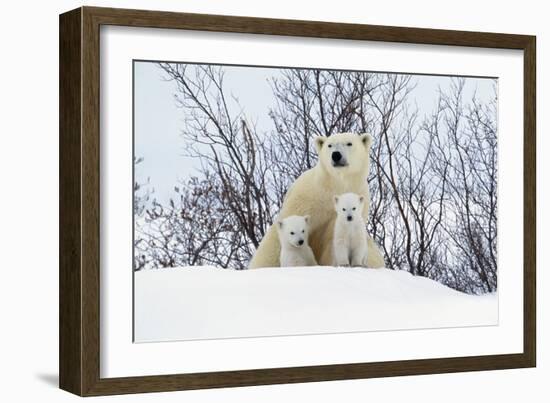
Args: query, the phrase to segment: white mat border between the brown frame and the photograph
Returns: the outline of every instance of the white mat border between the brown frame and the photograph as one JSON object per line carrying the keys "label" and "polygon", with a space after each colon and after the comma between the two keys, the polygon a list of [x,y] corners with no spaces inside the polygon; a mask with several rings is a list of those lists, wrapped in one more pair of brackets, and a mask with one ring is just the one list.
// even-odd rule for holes
{"label": "white mat border between the brown frame and the photograph", "polygon": [[[101,31],[101,324],[102,377],[226,371],[346,362],[505,354],[523,351],[523,60],[518,51],[363,43],[130,27]],[[326,55],[330,55],[327,59]],[[412,57],[414,56],[414,57]],[[459,329],[416,329],[256,337],[179,343],[132,340],[132,59],[315,66],[335,69],[499,77],[499,324]],[[397,66],[397,67],[396,67]],[[517,190],[519,189],[519,191]],[[257,301],[250,301],[252,304]],[[378,308],[380,309],[380,308]],[[246,315],[246,309],[242,311]],[[209,314],[212,321],[223,321]],[[178,315],[178,320],[185,320]],[[315,323],[315,317],[304,317]],[[265,324],[278,334],[281,323]],[[435,326],[438,327],[438,326]],[[445,326],[441,326],[445,327]],[[452,326],[451,326],[452,327]],[[357,329],[356,329],[357,330]],[[280,333],[279,333],[280,334]],[[290,333],[292,334],[292,332]],[[411,345],[414,348],[411,348]]]}

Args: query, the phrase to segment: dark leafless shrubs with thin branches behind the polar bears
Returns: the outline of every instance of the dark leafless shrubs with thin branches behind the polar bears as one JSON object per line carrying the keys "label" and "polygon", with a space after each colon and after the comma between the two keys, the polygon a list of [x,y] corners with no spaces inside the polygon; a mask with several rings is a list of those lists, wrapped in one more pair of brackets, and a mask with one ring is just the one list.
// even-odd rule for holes
{"label": "dark leafless shrubs with thin branches behind the polar bears", "polygon": [[159,67],[177,85],[182,141],[201,169],[169,205],[136,212],[136,268],[246,268],[290,184],[316,164],[313,137],[370,132],[368,230],[387,266],[468,293],[496,290],[496,84],[482,103],[453,79],[419,116],[411,76],[285,69],[271,80],[273,128],[259,131],[224,87],[223,67]]}

